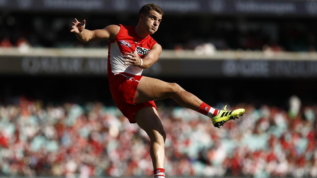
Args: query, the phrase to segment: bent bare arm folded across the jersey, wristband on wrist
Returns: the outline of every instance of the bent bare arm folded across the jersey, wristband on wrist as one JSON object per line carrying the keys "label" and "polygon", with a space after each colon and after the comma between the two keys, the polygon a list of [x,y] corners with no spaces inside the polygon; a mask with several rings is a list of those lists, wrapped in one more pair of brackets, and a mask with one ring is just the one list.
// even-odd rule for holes
{"label": "bent bare arm folded across the jersey, wristband on wrist", "polygon": [[129,63],[126,63],[124,65],[133,65],[133,66],[140,67],[142,69],[147,69],[151,67],[156,61],[158,61],[159,55],[161,54],[161,52],[162,52],[161,45],[159,45],[158,43],[155,43],[153,47],[151,48],[151,50],[147,52],[144,58],[142,59],[143,60],[142,66],[140,66],[141,58],[139,57],[139,54],[137,54],[136,52],[125,53],[126,55],[129,55],[129,56],[123,56],[125,58],[125,60],[123,61],[129,62]]}

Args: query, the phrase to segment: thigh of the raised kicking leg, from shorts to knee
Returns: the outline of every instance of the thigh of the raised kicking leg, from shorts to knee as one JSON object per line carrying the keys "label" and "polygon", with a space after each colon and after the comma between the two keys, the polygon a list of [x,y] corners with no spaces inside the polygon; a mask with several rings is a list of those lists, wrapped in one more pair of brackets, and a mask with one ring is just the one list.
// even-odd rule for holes
{"label": "thigh of the raised kicking leg, from shorts to knee", "polygon": [[175,83],[143,76],[139,81],[133,102],[143,103],[170,98],[176,88],[178,85]]}

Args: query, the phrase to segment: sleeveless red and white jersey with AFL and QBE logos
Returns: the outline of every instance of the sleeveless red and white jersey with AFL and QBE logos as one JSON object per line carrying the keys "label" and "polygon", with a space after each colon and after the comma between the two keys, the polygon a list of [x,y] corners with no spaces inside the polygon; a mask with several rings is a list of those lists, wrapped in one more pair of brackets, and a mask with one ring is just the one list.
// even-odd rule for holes
{"label": "sleeveless red and white jersey with AFL and QBE logos", "polygon": [[108,49],[108,75],[113,73],[126,72],[133,75],[141,75],[143,69],[133,66],[124,65],[124,53],[132,53],[135,51],[140,58],[144,58],[145,54],[151,50],[156,41],[149,35],[147,38],[140,38],[134,26],[120,25],[120,31],[114,41],[110,41]]}

